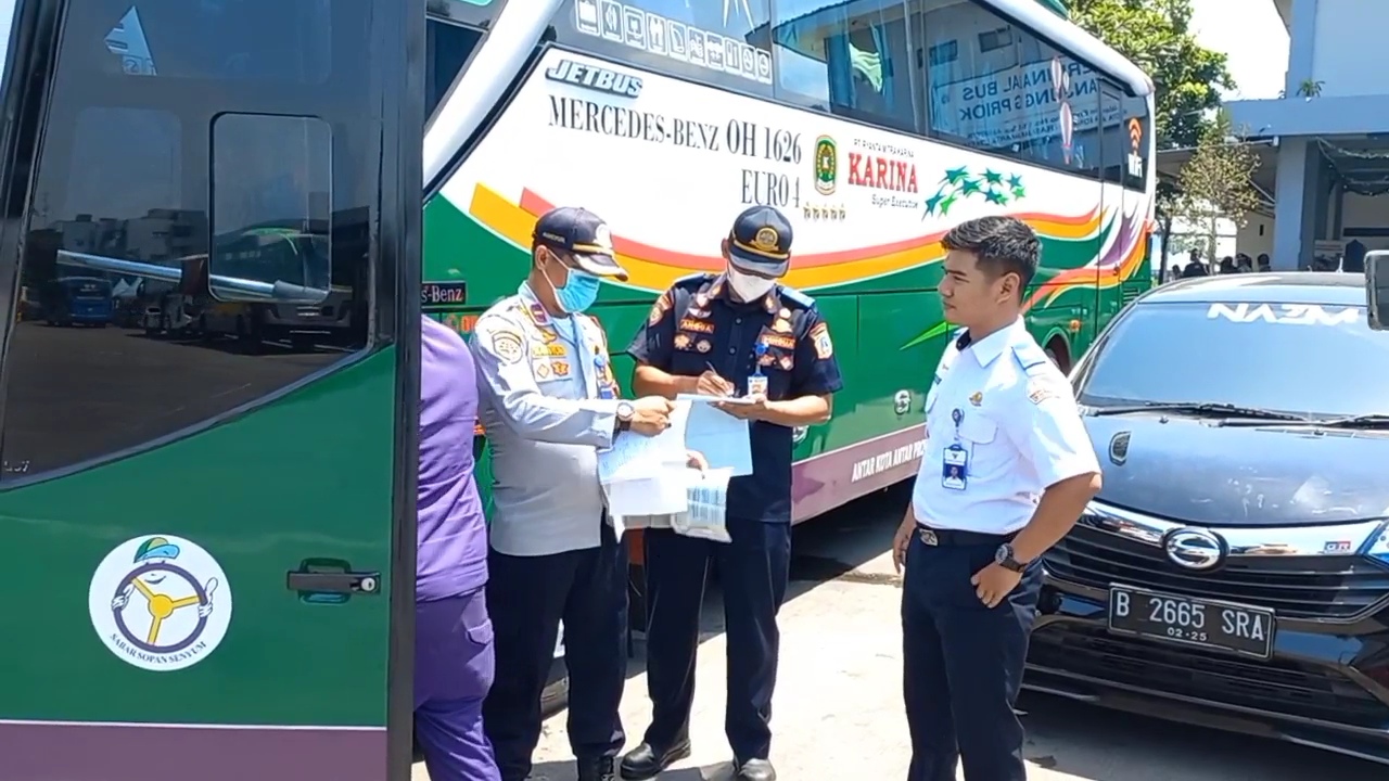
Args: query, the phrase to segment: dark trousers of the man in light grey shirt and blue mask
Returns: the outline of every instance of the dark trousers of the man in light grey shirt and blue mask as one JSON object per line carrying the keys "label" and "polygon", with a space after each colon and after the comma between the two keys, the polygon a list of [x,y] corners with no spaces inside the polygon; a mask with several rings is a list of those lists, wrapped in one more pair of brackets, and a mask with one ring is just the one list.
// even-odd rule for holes
{"label": "dark trousers of the man in light grey shirt and blue mask", "polygon": [[560,621],[569,670],[569,746],[581,759],[617,756],[626,742],[618,706],[626,681],[626,546],[604,524],[603,543],[550,556],[488,557],[488,609],[497,678],[483,724],[504,781],[531,773],[540,695]]}

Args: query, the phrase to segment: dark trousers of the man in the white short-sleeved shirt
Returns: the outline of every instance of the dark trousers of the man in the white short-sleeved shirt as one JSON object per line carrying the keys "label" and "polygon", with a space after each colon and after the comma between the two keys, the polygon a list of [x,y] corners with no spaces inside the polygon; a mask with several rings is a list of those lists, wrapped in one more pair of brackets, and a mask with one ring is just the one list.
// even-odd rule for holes
{"label": "dark trousers of the man in the white short-sleeved shirt", "polygon": [[940,532],[907,549],[901,591],[903,698],[911,730],[908,781],[1024,781],[1022,723],[1013,710],[1022,685],[1042,567],[989,609],[970,578],[1006,538]]}

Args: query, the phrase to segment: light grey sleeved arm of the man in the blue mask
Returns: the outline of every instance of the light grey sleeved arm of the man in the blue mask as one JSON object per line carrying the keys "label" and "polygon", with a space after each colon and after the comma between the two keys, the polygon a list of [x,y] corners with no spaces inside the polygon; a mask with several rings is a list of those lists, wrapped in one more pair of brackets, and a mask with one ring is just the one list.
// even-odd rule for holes
{"label": "light grey sleeved arm of the man in the blue mask", "polygon": [[482,315],[471,342],[478,393],[501,422],[525,439],[610,447],[617,431],[617,399],[556,399],[535,382],[521,329],[497,315]]}

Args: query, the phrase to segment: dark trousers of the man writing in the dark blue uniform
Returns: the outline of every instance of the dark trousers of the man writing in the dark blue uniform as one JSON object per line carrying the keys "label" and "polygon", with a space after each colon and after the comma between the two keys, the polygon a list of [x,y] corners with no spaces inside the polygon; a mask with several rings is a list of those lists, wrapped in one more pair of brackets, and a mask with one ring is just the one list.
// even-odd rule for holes
{"label": "dark trousers of the man writing in the dark blue uniform", "polygon": [[771,752],[772,689],[786,598],[790,524],[729,518],[729,543],[647,529],[646,682],[651,727],[646,742],[668,749],[689,735],[694,703],[694,653],[710,561],[724,584],[728,636],[728,709],[724,730],[739,762]]}

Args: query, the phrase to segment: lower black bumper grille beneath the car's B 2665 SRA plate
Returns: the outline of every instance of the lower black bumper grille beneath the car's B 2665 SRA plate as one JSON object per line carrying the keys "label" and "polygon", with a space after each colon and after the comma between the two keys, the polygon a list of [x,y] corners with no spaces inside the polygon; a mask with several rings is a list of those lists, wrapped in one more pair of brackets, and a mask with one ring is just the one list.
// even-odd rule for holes
{"label": "lower black bumper grille beneath the car's B 2665 SRA plate", "polygon": [[1032,635],[1028,663],[1235,707],[1376,730],[1389,727],[1389,705],[1317,664],[1226,657],[1065,624],[1043,627]]}

